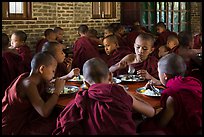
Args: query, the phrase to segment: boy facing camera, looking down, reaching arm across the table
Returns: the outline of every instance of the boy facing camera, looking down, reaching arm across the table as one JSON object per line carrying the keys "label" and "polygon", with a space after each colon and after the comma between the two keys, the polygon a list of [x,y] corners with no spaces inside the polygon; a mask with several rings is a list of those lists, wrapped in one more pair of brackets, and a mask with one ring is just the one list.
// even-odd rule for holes
{"label": "boy facing camera, looking down, reaching arm across the table", "polygon": [[[157,62],[158,59],[150,54],[153,48],[154,38],[151,34],[140,34],[135,40],[135,53],[125,56],[120,62],[112,65],[109,70],[115,72],[119,69],[132,66],[135,68],[135,73],[146,79],[158,78]],[[127,73],[126,73],[127,74]]]}

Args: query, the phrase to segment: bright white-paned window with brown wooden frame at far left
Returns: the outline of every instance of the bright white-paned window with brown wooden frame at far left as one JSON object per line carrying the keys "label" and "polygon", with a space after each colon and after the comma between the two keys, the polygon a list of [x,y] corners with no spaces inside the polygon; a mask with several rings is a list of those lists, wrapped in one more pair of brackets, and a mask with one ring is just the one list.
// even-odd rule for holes
{"label": "bright white-paned window with brown wooden frame at far left", "polygon": [[2,2],[3,19],[31,19],[31,2]]}

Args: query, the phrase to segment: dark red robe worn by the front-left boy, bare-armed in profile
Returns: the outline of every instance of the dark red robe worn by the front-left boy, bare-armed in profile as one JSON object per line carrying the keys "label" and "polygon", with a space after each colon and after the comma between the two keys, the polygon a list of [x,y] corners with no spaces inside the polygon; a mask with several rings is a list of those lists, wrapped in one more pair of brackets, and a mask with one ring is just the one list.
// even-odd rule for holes
{"label": "dark red robe worn by the front-left boy, bare-armed in profile", "polygon": [[[20,98],[19,94],[26,91],[17,89],[17,86],[28,75],[29,73],[21,74],[5,91],[5,96],[2,99],[3,135],[46,135],[51,134],[55,127],[56,115],[43,118],[27,98]],[[40,96],[45,100],[45,83],[39,84],[37,88]]]}

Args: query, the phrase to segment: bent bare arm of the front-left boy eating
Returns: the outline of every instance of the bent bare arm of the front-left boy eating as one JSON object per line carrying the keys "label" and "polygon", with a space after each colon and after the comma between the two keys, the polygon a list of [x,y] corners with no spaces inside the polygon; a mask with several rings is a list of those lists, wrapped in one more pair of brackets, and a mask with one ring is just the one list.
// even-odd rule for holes
{"label": "bent bare arm of the front-left boy eating", "polygon": [[[59,80],[58,83],[62,82],[62,80]],[[35,108],[35,110],[42,116],[42,117],[48,117],[50,113],[52,112],[53,108],[57,104],[59,94],[61,92],[60,87],[64,86],[58,86],[55,88],[54,94],[47,100],[47,102],[44,102],[44,100],[41,98],[41,96],[38,93],[37,87],[32,84],[28,83],[25,87],[25,93],[26,96],[28,97],[29,101]]]}

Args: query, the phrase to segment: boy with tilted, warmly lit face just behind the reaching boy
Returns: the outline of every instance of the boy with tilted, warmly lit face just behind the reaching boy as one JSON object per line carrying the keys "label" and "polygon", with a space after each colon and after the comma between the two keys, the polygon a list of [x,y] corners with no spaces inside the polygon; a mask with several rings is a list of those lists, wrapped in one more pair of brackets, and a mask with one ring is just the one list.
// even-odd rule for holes
{"label": "boy with tilted, warmly lit face just behind the reaching boy", "polygon": [[131,54],[129,50],[124,47],[119,47],[117,37],[115,35],[109,35],[103,39],[103,45],[105,46],[105,52],[109,55],[109,59],[106,62],[108,67],[119,62],[123,57]]}

